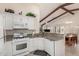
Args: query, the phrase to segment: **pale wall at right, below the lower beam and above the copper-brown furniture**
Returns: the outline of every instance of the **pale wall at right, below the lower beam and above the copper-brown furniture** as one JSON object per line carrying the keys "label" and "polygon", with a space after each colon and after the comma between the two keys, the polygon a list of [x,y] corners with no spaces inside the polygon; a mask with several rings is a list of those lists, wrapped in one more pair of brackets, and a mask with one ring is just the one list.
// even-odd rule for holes
{"label": "pale wall at right, below the lower beam and above the copper-brown furniture", "polygon": [[[64,26],[65,27],[65,33],[68,32],[76,32],[76,30],[78,30],[78,26],[79,26],[79,13],[75,13],[75,15],[70,15],[70,14],[66,14],[65,16],[55,20],[52,23],[52,27],[54,25],[59,25],[59,26]],[[72,22],[72,23],[67,23],[67,22]]]}

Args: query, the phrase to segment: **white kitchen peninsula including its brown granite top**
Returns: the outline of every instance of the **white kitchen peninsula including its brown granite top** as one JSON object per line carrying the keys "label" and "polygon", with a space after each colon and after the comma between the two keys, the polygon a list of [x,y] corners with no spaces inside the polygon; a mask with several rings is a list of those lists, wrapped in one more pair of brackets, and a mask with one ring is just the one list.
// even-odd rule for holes
{"label": "white kitchen peninsula including its brown granite top", "polygon": [[[65,55],[65,40],[63,34],[37,33],[31,37],[33,50],[45,50],[51,56]],[[30,45],[31,45],[30,44]]]}

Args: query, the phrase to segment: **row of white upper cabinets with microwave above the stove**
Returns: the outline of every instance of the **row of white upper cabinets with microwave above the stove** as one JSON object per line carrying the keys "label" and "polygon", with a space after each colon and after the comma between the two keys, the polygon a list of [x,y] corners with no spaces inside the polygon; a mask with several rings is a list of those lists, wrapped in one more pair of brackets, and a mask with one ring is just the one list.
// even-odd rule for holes
{"label": "row of white upper cabinets with microwave above the stove", "polygon": [[2,16],[4,19],[4,29],[23,28],[36,30],[36,18],[6,12],[2,13]]}

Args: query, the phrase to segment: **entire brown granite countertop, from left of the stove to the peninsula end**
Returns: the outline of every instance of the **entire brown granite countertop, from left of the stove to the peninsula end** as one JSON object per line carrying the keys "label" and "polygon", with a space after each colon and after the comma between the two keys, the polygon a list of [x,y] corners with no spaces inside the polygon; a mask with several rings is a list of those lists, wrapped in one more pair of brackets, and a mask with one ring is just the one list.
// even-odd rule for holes
{"label": "entire brown granite countertop, from left of the stove to the peninsula end", "polygon": [[56,34],[56,33],[36,33],[33,35],[28,35],[25,37],[13,37],[13,35],[6,35],[6,41],[11,41],[12,39],[22,39],[22,38],[45,38],[50,41],[58,41],[64,39],[63,34]]}

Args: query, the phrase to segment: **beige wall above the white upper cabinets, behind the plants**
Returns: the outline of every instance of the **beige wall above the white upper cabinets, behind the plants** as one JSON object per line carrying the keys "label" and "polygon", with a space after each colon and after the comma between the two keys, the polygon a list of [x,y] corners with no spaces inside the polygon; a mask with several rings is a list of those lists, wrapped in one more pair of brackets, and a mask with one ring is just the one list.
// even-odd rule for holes
{"label": "beige wall above the white upper cabinets, behind the plants", "polygon": [[36,4],[30,3],[0,3],[0,11],[4,11],[5,8],[13,9],[15,13],[23,11],[23,15],[25,15],[27,12],[36,13],[35,11],[38,9]]}

